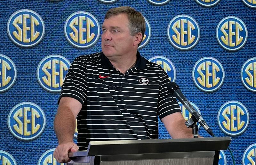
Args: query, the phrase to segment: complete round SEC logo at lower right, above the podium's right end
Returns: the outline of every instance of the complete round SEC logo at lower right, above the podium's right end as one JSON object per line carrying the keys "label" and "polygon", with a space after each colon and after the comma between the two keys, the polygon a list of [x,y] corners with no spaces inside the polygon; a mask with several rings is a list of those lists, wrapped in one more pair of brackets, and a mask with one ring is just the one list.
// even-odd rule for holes
{"label": "complete round SEC logo at lower right, above the podium's right end", "polygon": [[227,135],[240,135],[249,124],[249,113],[242,103],[228,101],[220,107],[218,124],[220,129]]}

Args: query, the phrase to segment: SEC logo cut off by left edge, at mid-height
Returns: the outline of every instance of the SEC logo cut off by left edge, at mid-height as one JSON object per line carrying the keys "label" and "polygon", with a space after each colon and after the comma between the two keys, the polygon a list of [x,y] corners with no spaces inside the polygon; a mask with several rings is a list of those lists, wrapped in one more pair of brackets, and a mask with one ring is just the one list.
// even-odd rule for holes
{"label": "SEC logo cut off by left edge, at mid-height", "polygon": [[0,54],[0,92],[9,90],[17,78],[17,69],[13,61]]}

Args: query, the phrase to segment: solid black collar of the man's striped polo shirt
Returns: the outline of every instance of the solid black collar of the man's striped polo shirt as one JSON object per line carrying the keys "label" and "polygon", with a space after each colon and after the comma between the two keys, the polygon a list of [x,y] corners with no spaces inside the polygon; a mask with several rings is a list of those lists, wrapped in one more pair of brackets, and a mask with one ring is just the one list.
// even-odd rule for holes
{"label": "solid black collar of the man's striped polo shirt", "polygon": [[[145,69],[146,68],[146,59],[144,57],[142,57],[140,55],[140,52],[138,52],[138,51],[137,51],[136,57],[137,57],[137,60],[136,60],[135,68],[140,69],[140,70]],[[100,60],[101,60],[101,64],[102,64],[103,68],[105,68],[105,69],[113,68],[113,65],[108,60],[108,58],[105,56],[105,54],[103,54],[103,52],[100,52]]]}

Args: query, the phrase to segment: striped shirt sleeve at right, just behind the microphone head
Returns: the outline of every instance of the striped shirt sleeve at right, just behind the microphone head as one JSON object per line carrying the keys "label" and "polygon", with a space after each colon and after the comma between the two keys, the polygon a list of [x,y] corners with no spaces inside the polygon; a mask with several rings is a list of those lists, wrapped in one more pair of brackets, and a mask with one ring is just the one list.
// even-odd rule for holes
{"label": "striped shirt sleeve at right, just behind the microphone head", "polygon": [[163,70],[163,80],[160,84],[159,89],[159,98],[158,98],[158,107],[157,107],[157,113],[159,118],[164,118],[167,115],[170,115],[175,112],[181,112],[180,106],[176,100],[176,97],[173,97],[170,93],[170,80],[169,76],[166,74],[166,72]]}

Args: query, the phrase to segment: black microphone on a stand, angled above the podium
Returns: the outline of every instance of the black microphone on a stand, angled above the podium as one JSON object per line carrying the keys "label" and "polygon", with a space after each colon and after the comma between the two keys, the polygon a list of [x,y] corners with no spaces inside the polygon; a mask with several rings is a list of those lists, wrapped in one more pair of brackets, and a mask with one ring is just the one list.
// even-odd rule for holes
{"label": "black microphone on a stand, angled above the podium", "polygon": [[[188,102],[187,98],[182,94],[180,87],[174,82],[170,83],[170,93],[174,97],[176,97],[181,102],[181,104],[183,104],[185,106],[185,108],[192,114],[191,118],[194,120],[194,122],[198,122],[202,127],[204,127],[204,129],[207,131],[207,133],[209,133],[211,136],[214,136],[212,129],[206,124],[206,122],[204,121],[202,116]],[[189,127],[189,125],[187,125],[187,123],[185,123],[185,124],[187,127]]]}

